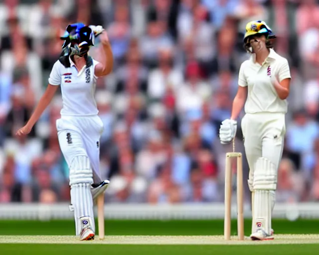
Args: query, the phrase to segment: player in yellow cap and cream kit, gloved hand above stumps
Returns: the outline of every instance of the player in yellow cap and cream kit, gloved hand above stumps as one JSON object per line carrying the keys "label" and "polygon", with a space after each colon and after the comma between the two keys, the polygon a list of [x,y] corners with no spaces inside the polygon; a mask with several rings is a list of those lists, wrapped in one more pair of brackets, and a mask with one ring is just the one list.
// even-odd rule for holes
{"label": "player in yellow cap and cream kit, gloved hand above stumps", "polygon": [[244,45],[251,56],[239,70],[231,117],[222,122],[219,130],[221,143],[231,142],[237,129],[236,119],[245,105],[241,127],[249,164],[248,185],[252,192],[252,240],[274,239],[271,214],[284,146],[286,99],[291,81],[287,59],[272,47],[275,37],[264,21],[251,21],[246,25]]}

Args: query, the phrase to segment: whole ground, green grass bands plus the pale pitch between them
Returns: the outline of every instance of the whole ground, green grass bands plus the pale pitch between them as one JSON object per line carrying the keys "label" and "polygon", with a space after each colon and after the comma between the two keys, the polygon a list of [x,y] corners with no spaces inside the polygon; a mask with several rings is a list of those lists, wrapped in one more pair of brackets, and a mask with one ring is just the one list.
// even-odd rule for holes
{"label": "whole ground, green grass bands plus the pale pitch between them", "polygon": [[[73,221],[0,221],[0,254],[307,255],[319,251],[319,220],[274,220],[277,239],[267,242],[236,241],[235,237],[225,242],[221,236],[223,220],[106,220],[105,240],[92,242],[79,242],[73,237],[73,224]],[[251,221],[246,220],[246,236],[250,229]],[[232,222],[232,235],[236,235],[236,221]]]}

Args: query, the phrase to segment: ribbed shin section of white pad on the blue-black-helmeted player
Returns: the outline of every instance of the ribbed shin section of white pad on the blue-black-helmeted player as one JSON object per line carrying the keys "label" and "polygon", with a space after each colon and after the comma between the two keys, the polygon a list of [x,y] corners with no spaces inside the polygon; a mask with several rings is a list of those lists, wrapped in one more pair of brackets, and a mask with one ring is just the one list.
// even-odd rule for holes
{"label": "ribbed shin section of white pad on the blue-black-helmeted player", "polygon": [[82,224],[80,218],[82,217],[90,219],[92,230],[95,232],[93,199],[90,184],[73,184],[71,186],[71,203],[72,210],[74,210],[75,234],[78,236],[81,233]]}

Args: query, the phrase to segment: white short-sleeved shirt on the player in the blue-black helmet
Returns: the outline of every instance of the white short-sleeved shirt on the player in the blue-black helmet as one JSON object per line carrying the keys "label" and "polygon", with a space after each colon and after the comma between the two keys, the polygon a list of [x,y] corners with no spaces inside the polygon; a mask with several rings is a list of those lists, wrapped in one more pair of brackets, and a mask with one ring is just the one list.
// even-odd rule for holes
{"label": "white short-sleeved shirt on the player in the blue-black helmet", "polygon": [[94,69],[99,62],[89,58],[92,61],[87,61],[87,65],[79,71],[70,57],[64,57],[66,65],[60,60],[53,65],[49,84],[61,86],[63,101],[61,116],[88,116],[97,115],[99,112],[94,97],[97,79]]}

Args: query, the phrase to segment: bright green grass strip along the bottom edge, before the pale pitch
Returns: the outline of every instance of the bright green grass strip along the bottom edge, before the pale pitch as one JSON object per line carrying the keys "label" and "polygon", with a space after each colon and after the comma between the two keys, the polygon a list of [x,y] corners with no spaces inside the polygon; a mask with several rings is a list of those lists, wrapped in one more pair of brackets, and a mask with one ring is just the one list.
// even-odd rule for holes
{"label": "bright green grass strip along the bottom edge, before the pale pitch", "polygon": [[261,246],[151,246],[151,245],[0,245],[3,255],[314,255],[319,245],[276,245],[261,249]]}

